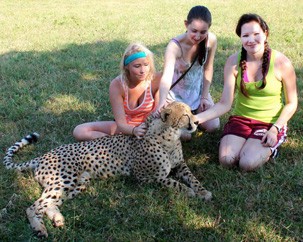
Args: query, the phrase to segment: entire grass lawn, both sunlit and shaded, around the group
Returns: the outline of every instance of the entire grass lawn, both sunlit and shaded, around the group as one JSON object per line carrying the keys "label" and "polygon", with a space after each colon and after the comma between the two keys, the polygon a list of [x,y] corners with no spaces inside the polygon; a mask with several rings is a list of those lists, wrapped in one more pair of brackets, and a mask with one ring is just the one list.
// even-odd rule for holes
{"label": "entire grass lawn, both sunlit and shaded, around the group", "polygon": [[[155,53],[157,69],[169,39],[182,33],[183,20],[196,4],[213,15],[218,37],[212,94],[220,98],[226,58],[239,49],[234,33],[242,13],[256,12],[268,22],[270,45],[292,61],[299,108],[289,122],[289,138],[277,160],[256,172],[218,164],[221,130],[196,133],[184,143],[186,162],[214,194],[211,202],[132,178],[94,181],[88,191],[64,203],[63,229],[45,220],[46,241],[302,241],[303,131],[300,0],[0,2],[0,158],[7,147],[37,131],[41,140],[16,158],[27,160],[73,142],[82,122],[112,119],[110,81],[130,42]],[[228,114],[221,120],[225,123]],[[31,173],[0,166],[0,240],[38,241],[25,209],[40,195]],[[6,208],[6,213],[4,209]]]}

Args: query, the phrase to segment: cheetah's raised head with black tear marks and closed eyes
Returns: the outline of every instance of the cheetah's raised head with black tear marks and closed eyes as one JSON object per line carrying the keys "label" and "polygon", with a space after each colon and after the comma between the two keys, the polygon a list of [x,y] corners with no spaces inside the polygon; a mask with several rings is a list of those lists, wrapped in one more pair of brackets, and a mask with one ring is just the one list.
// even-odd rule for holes
{"label": "cheetah's raised head with black tear marks and closed eyes", "polygon": [[192,133],[196,131],[198,121],[190,107],[182,102],[172,102],[161,111],[161,120],[168,126],[185,129]]}

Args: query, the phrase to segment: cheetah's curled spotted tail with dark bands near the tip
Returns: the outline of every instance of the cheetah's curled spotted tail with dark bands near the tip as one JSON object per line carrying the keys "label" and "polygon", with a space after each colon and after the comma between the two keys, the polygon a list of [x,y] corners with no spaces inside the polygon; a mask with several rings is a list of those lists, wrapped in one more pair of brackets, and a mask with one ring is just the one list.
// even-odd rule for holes
{"label": "cheetah's curled spotted tail with dark bands near the tip", "polygon": [[32,133],[25,136],[20,141],[16,142],[13,146],[11,146],[7,150],[6,155],[3,159],[3,164],[5,165],[6,169],[15,169],[19,171],[34,169],[37,166],[37,162],[35,162],[34,160],[23,163],[14,163],[13,156],[23,147],[37,142],[38,138],[38,133]]}

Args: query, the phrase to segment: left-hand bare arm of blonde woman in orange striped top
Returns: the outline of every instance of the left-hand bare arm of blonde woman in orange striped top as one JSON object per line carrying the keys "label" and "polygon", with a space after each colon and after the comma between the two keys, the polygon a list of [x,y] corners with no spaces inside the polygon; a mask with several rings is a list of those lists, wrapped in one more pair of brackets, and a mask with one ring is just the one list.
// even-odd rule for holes
{"label": "left-hand bare arm of blonde woman in orange striped top", "polygon": [[134,126],[126,122],[123,107],[124,90],[120,76],[112,80],[109,87],[109,98],[118,129],[124,134],[132,134]]}

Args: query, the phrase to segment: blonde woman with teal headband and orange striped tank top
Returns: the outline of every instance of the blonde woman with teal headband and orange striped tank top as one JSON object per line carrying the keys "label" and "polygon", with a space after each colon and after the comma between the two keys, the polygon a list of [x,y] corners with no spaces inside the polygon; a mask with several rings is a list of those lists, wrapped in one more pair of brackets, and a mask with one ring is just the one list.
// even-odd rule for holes
{"label": "blonde woman with teal headband and orange striped tank top", "polygon": [[161,75],[155,72],[153,53],[144,45],[131,44],[121,60],[121,75],[111,81],[110,103],[115,121],[96,121],[78,125],[73,135],[78,141],[118,133],[141,138],[147,116],[159,100]]}

